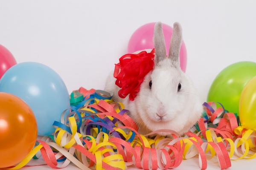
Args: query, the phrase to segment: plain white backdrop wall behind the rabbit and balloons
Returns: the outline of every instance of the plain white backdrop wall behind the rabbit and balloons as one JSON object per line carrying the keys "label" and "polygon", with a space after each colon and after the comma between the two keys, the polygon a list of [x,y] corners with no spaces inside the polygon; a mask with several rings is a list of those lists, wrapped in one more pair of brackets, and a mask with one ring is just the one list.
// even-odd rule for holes
{"label": "plain white backdrop wall behind the rabbit and balloons", "polygon": [[54,69],[69,93],[104,89],[131,34],[161,21],[183,27],[188,62],[203,101],[215,76],[239,61],[256,62],[256,1],[1,0],[0,44],[17,62]]}

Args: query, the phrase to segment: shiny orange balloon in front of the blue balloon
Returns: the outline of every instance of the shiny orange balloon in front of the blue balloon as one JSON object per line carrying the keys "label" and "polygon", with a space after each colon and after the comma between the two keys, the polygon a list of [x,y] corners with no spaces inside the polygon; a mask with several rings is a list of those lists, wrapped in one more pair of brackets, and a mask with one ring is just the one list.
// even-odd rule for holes
{"label": "shiny orange balloon in front of the blue balloon", "polygon": [[29,105],[13,94],[0,92],[0,168],[24,159],[33,149],[37,133]]}

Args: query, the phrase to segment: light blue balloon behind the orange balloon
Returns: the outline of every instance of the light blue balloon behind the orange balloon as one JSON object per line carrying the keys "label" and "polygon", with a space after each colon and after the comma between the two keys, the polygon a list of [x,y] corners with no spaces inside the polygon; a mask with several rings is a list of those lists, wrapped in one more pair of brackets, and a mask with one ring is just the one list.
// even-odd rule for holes
{"label": "light blue balloon behind the orange balloon", "polygon": [[0,92],[23,99],[35,113],[38,135],[55,131],[54,121],[70,108],[67,87],[61,77],[48,66],[38,62],[22,62],[12,66],[0,79]]}

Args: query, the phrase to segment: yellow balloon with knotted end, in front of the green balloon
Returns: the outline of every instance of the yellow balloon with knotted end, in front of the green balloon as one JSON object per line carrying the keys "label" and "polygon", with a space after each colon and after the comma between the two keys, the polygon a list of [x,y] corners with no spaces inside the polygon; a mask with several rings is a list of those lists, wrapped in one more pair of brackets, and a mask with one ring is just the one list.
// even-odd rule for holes
{"label": "yellow balloon with knotted end, in front of the green balloon", "polygon": [[236,129],[240,134],[242,129],[256,129],[256,76],[244,86],[239,102],[239,118],[241,127]]}

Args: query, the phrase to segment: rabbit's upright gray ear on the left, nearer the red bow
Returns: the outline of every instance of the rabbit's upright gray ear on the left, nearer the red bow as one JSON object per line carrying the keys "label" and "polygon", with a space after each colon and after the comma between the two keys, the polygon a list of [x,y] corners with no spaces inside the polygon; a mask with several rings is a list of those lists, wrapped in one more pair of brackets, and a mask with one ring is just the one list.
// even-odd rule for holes
{"label": "rabbit's upright gray ear on the left, nearer the red bow", "polygon": [[161,60],[166,58],[166,46],[165,46],[165,40],[163,36],[163,28],[162,23],[157,22],[154,26],[154,48],[156,52],[156,59],[157,62],[160,62]]}

